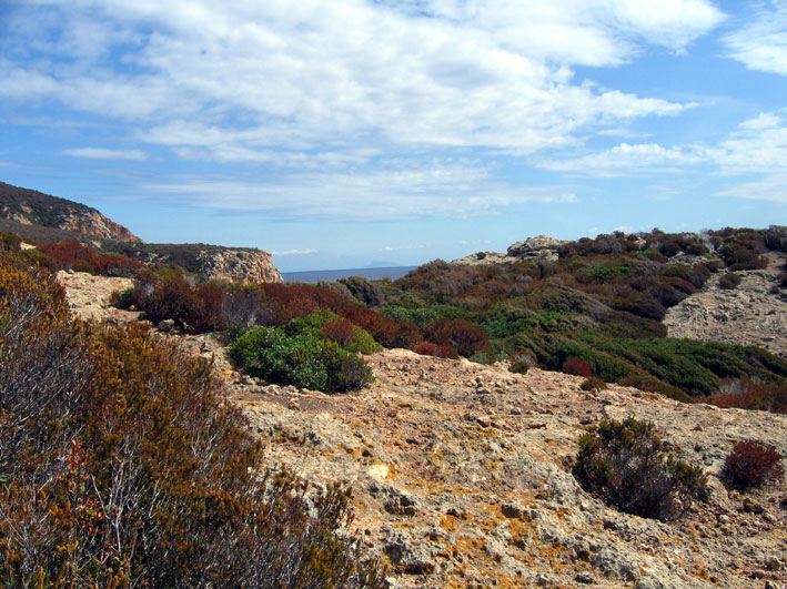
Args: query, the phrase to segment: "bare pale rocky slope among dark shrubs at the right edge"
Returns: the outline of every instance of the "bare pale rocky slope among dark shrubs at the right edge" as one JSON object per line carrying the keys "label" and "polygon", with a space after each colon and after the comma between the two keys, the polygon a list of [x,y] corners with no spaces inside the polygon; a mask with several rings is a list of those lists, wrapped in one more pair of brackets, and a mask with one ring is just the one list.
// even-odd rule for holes
{"label": "bare pale rocky slope among dark shrubs at the right edge", "polygon": [[787,301],[771,293],[787,258],[776,252],[768,258],[765,270],[738,272],[741,281],[734,290],[719,286],[724,273],[710,276],[700,291],[667,311],[669,336],[754,345],[787,357]]}

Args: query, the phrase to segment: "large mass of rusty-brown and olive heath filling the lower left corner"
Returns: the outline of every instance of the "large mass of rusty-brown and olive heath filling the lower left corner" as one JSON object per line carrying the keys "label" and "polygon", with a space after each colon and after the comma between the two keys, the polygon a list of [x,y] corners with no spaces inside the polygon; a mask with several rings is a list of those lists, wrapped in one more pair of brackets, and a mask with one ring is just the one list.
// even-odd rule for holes
{"label": "large mass of rusty-brown and olive heath filling the lower left corner", "polygon": [[0,585],[382,587],[339,535],[349,495],[256,473],[204,359],[74,322],[50,274],[4,260],[0,317]]}

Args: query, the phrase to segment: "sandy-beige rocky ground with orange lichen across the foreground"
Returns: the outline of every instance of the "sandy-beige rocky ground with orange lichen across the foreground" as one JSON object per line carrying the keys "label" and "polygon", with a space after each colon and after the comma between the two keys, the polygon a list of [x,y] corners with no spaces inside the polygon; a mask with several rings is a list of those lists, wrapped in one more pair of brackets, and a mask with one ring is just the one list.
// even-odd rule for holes
{"label": "sandy-beige rocky ground with orange lichen across the foreground", "polygon": [[[91,294],[98,283],[61,278],[78,313],[103,307],[103,295]],[[369,357],[372,385],[329,396],[249,379],[215,335],[181,339],[214,358],[229,398],[265,441],[268,465],[315,487],[353,489],[355,531],[390,565],[392,588],[787,585],[784,480],[741,495],[719,479],[738,439],[786,456],[785,416],[682,405],[616,385],[586,393],[578,377],[400,349]],[[663,524],[619,514],[577,486],[569,473],[577,437],[627,416],[654,422],[707,469],[707,502]]]}

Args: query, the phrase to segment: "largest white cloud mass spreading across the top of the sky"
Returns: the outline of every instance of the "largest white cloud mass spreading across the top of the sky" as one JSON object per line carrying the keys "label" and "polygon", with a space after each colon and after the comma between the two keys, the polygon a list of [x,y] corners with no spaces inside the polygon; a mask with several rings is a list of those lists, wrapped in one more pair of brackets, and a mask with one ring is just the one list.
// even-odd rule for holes
{"label": "largest white cloud mass spreading across the top of the sky", "polygon": [[[723,18],[706,0],[38,6],[42,41],[11,40],[29,59],[0,61],[0,95],[134,121],[144,141],[223,163],[349,144],[522,154],[675,114],[686,105],[573,84],[571,68],[622,63],[640,42],[680,49]],[[38,59],[51,48],[61,59]]]}

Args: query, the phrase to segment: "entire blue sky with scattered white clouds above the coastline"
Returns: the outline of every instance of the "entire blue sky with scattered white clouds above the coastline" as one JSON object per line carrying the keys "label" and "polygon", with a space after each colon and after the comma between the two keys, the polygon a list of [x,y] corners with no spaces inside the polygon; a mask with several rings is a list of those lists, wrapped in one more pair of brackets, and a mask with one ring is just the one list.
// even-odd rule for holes
{"label": "entire blue sky with scattered white clouds above the coastline", "polygon": [[0,181],[284,272],[787,224],[787,0],[0,0]]}

